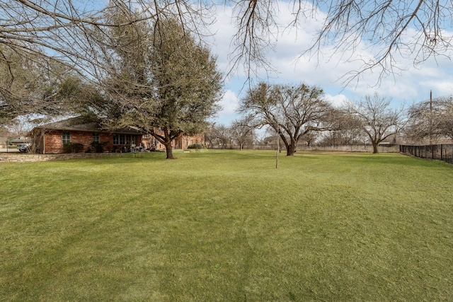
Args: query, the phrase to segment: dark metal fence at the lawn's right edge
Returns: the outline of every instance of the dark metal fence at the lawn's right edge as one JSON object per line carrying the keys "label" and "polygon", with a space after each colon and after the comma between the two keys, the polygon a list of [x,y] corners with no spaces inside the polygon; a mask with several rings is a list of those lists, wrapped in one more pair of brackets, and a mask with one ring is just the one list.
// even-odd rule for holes
{"label": "dark metal fence at the lawn's right edge", "polygon": [[427,145],[427,146],[405,146],[400,145],[399,151],[405,154],[420,158],[437,159],[453,163],[453,144]]}

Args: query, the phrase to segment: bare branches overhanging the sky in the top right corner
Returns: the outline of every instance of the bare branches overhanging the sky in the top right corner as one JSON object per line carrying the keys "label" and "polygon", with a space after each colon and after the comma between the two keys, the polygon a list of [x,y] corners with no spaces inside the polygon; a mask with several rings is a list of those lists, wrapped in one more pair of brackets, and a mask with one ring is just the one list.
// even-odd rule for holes
{"label": "bare branches overhanging the sky in the top right corner", "polygon": [[[310,50],[319,52],[323,44],[333,42],[336,52],[351,53],[349,59],[362,61],[362,67],[350,71],[351,81],[366,70],[377,69],[382,76],[398,73],[398,57],[413,64],[431,56],[451,56],[452,35],[448,34],[453,15],[450,1],[319,1],[328,4],[328,13],[316,43]],[[356,57],[354,51],[364,43],[372,57]],[[346,59],[346,58],[345,58]]]}

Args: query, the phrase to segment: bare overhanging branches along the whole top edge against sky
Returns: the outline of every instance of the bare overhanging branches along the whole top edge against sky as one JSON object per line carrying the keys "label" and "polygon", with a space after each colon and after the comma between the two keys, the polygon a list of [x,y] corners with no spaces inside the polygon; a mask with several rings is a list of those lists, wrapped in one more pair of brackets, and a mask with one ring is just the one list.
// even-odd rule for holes
{"label": "bare overhanging branches along the whole top edge against sky", "polygon": [[[232,68],[243,65],[249,76],[258,69],[271,70],[266,54],[282,30],[277,22],[278,2],[226,0],[220,4],[234,8]],[[451,57],[453,6],[447,0],[290,0],[285,4],[293,17],[283,27],[299,26],[299,21],[319,18],[319,11],[326,12],[314,43],[301,53],[320,54],[324,45],[331,44],[340,54],[350,53],[351,57],[343,59],[361,60],[362,67],[350,71],[346,82],[358,80],[369,69],[378,69],[381,77],[398,72],[396,60],[401,55],[413,59],[414,64],[432,56]],[[117,24],[105,20],[106,10],[124,5],[136,11],[134,18]],[[158,25],[178,18],[186,32],[202,39],[214,22],[216,5],[206,0],[110,0],[104,5],[98,1],[0,0],[0,45],[22,57],[51,57],[96,77],[91,65],[99,62],[87,52],[91,46],[87,28],[103,32],[144,20]],[[361,43],[372,57],[357,57],[355,50]]]}

